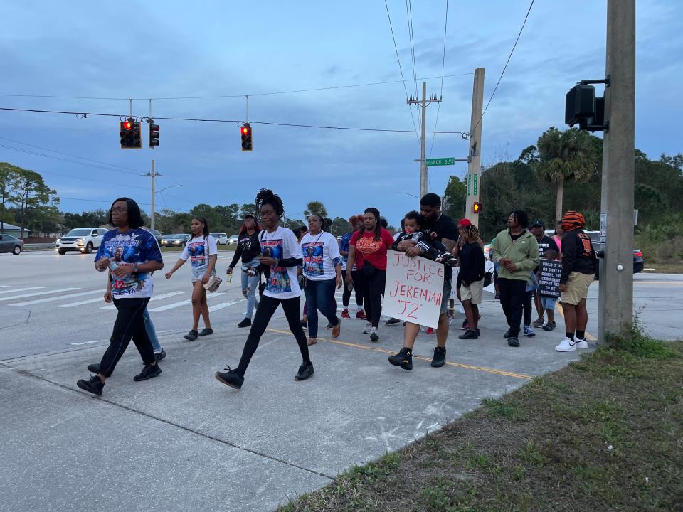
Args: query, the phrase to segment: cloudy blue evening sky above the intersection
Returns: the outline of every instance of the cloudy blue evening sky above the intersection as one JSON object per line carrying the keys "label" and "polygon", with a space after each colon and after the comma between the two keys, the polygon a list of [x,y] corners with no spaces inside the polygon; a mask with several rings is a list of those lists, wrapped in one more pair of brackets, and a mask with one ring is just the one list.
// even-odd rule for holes
{"label": "cloudy blue evening sky above the intersection", "polygon": [[[450,1],[444,74],[456,76],[443,79],[442,92],[445,6],[445,1],[412,2],[415,76],[420,92],[420,78],[429,78],[428,95],[443,94],[437,129],[467,132],[473,70],[485,68],[486,103],[529,1]],[[388,8],[413,94],[406,2],[389,0]],[[578,80],[605,75],[605,11],[605,1],[536,0],[482,121],[484,164],[517,158],[550,126],[566,128],[568,89]],[[0,18],[0,107],[127,114],[128,101],[115,98],[250,94],[253,122],[413,129],[400,81],[258,95],[401,80],[380,0],[25,0],[2,2]],[[683,151],[683,3],[639,0],[636,23],[635,144],[651,158],[676,154]],[[157,117],[245,119],[243,97],[160,99],[152,105]],[[437,109],[428,107],[428,130],[434,129]],[[133,113],[147,116],[147,100],[134,101]],[[418,123],[415,107],[413,117]],[[397,224],[418,203],[407,195],[419,193],[415,134],[254,124],[254,151],[243,153],[234,123],[159,124],[156,151],[147,148],[145,130],[144,149],[125,151],[115,117],[3,111],[0,161],[40,172],[62,198],[60,208],[72,212],[108,208],[118,196],[132,196],[149,211],[149,178],[139,175],[149,171],[152,158],[163,174],[157,188],[181,185],[157,194],[157,210],[250,203],[267,187],[282,196],[290,217],[302,218],[306,203],[315,200],[342,217],[375,206]],[[429,135],[427,153],[462,158],[467,142],[458,134]],[[464,163],[431,168],[430,191],[443,194],[448,177],[466,171]]]}

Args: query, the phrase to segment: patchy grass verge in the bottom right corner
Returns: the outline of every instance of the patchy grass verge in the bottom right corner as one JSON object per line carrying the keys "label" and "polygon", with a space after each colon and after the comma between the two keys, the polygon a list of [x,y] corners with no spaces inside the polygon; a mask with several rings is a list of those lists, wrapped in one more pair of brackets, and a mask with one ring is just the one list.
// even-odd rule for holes
{"label": "patchy grass verge in the bottom right corner", "polygon": [[633,331],[279,510],[683,511],[683,343]]}

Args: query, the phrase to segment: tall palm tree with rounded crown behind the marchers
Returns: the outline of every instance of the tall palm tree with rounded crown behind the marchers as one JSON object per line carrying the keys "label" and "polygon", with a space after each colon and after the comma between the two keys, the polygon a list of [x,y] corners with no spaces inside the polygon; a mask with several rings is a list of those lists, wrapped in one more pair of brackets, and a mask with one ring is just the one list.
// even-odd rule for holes
{"label": "tall palm tree with rounded crown behind the marchers", "polygon": [[557,185],[555,220],[562,218],[562,196],[566,181],[588,181],[595,168],[591,139],[586,132],[551,127],[539,137],[539,178]]}

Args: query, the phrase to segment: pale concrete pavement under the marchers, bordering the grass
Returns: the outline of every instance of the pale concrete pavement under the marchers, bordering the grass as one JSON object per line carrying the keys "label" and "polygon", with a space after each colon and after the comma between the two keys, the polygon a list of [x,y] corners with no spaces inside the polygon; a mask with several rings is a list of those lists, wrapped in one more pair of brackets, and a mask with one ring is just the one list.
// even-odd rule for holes
{"label": "pale concrete pavement under the marchers, bordering the grass", "polygon": [[554,351],[559,315],[558,329],[510,348],[498,302],[481,312],[475,341],[457,339],[456,315],[443,368],[430,368],[435,339],[421,333],[411,371],[386,360],[401,324],[371,343],[364,321],[345,320],[338,340],[311,347],[315,375],[296,382],[300,355],[278,310],[240,391],[213,378],[238,363],[248,332],[233,321],[192,343],[164,336],[163,373],[142,383],[131,346],[102,398],[75,385],[101,346],[6,361],[0,511],[271,511],[581,354]]}

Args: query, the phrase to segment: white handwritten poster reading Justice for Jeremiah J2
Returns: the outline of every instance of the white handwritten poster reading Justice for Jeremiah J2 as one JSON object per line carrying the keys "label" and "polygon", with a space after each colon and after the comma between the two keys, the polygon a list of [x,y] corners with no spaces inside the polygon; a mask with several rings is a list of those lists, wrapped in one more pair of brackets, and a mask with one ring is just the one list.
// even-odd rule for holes
{"label": "white handwritten poster reading Justice for Jeremiah J2", "polygon": [[382,314],[436,329],[443,296],[443,265],[392,250],[386,252],[386,260]]}

